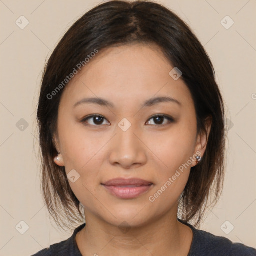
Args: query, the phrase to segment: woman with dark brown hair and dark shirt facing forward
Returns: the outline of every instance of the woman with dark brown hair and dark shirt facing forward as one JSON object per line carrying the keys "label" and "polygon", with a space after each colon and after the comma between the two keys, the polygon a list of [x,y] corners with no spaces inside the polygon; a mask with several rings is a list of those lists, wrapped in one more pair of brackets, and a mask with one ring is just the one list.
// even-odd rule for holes
{"label": "woman with dark brown hair and dark shirt facing forward", "polygon": [[195,229],[221,191],[224,108],[209,57],[167,8],[85,13],[48,60],[37,118],[48,210],[86,224],[35,255],[256,255]]}

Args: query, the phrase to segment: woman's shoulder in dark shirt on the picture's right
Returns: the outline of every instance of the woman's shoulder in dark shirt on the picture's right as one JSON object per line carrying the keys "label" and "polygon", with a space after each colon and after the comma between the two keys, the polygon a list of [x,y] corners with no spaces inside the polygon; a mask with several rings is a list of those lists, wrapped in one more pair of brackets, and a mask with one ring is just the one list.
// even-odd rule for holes
{"label": "woman's shoulder in dark shirt on the picture's right", "polygon": [[209,232],[192,227],[193,241],[189,256],[256,256],[256,249],[242,243],[233,243],[223,236],[216,236]]}

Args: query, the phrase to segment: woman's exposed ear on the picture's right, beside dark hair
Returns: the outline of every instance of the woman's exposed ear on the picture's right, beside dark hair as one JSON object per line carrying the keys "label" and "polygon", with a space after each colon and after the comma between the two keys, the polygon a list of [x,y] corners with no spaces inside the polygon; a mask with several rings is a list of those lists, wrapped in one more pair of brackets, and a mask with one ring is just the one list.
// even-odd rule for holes
{"label": "woman's exposed ear on the picture's right, beside dark hair", "polygon": [[[196,140],[196,145],[195,145],[195,150],[194,150],[194,155],[198,155],[200,157],[203,157],[203,154],[206,150],[207,142],[208,142],[208,137],[210,134],[210,128],[211,128],[211,123],[212,123],[212,117],[208,116],[204,120],[204,125],[205,125],[205,131],[200,132],[197,135],[197,140]],[[196,165],[196,161],[193,161],[191,167]]]}

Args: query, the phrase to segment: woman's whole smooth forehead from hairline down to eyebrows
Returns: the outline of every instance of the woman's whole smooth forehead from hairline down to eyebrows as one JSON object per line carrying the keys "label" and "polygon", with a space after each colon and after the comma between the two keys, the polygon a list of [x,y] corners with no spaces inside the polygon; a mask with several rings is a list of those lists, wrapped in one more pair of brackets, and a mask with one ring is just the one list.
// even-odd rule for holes
{"label": "woman's whole smooth forehead from hairline down to eyebrows", "polygon": [[124,104],[153,96],[176,96],[179,101],[187,102],[191,100],[189,89],[182,79],[174,80],[169,75],[173,67],[153,44],[109,47],[99,51],[79,71],[62,97],[77,101],[89,95]]}

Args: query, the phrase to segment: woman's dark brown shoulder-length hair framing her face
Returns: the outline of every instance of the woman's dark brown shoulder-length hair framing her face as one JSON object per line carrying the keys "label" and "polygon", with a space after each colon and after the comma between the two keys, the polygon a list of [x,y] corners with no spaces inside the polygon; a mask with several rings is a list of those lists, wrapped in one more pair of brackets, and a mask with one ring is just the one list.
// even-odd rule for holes
{"label": "woman's dark brown shoulder-length hair framing her face", "polygon": [[84,222],[82,205],[69,186],[65,168],[53,162],[57,154],[53,134],[63,81],[95,49],[129,43],[156,44],[182,71],[181,79],[194,101],[198,132],[205,132],[205,119],[212,118],[206,151],[200,164],[191,168],[180,198],[180,218],[199,224],[208,202],[213,205],[219,198],[224,171],[224,107],[207,53],[189,27],[166,7],[144,0],[109,1],[85,13],[68,29],[42,76],[37,111],[42,191],[50,215],[61,228]]}

